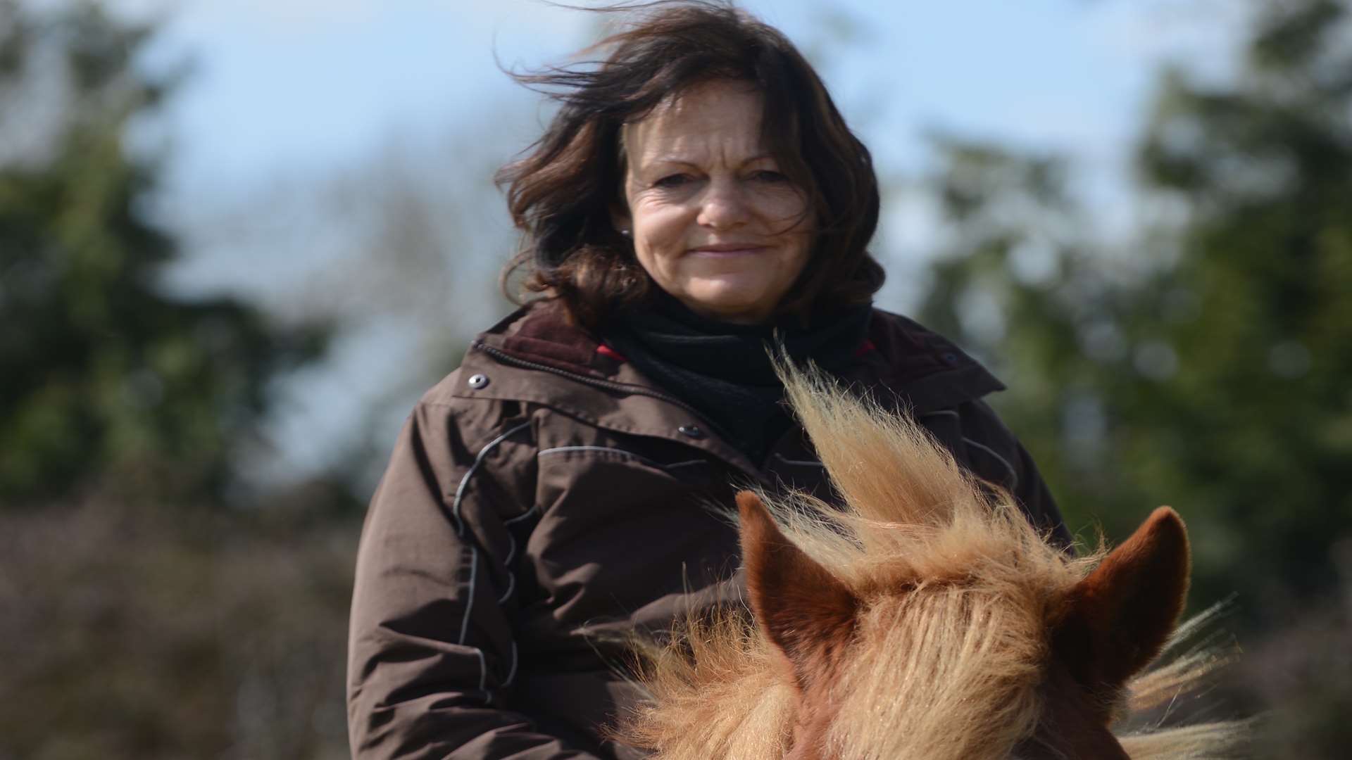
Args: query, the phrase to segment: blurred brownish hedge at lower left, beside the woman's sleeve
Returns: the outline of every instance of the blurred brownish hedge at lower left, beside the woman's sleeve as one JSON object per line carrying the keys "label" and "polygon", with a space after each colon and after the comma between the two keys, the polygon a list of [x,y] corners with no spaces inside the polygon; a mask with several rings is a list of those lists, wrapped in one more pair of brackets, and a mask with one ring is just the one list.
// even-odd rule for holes
{"label": "blurred brownish hedge at lower left, beside the woman's sleeve", "polygon": [[346,757],[345,499],[0,513],[0,759]]}

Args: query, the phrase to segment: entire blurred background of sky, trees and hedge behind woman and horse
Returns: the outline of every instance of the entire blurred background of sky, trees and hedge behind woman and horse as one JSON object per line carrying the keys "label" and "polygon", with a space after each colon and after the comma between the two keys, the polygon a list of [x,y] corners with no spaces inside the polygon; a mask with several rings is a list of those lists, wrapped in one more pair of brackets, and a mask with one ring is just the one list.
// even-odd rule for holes
{"label": "entire blurred background of sky, trees and hedge behind woman and horse", "polygon": [[[1352,0],[746,0],[875,151],[879,306],[1072,530],[1230,599],[1194,706],[1352,746]],[[510,310],[535,0],[0,0],[0,759],[343,757],[364,504]]]}

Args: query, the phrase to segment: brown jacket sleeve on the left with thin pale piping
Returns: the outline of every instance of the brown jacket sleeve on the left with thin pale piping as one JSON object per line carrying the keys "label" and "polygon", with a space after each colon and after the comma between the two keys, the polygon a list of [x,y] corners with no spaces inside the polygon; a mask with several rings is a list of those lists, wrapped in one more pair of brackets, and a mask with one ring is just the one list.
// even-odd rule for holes
{"label": "brown jacket sleeve on the left with thin pale piping", "polygon": [[510,545],[500,508],[525,513],[530,503],[500,502],[533,485],[503,488],[483,471],[529,438],[529,422],[506,421],[469,450],[452,408],[429,402],[404,425],[357,552],[347,645],[354,759],[594,757],[506,709],[516,650],[498,603],[508,577],[500,548]]}

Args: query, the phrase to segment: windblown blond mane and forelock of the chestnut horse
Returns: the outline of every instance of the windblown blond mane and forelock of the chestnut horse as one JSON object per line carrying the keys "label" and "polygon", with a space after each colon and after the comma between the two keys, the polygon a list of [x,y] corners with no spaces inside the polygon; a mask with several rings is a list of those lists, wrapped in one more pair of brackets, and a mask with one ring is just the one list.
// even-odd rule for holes
{"label": "windblown blond mane and forelock of the chestnut horse", "polygon": [[[975,483],[914,422],[817,375],[787,375],[794,408],[844,508],[806,495],[760,500],[783,537],[829,571],[827,583],[857,599],[853,625],[826,653],[833,664],[819,680],[833,715],[818,740],[821,756],[999,759],[1015,748],[1018,756],[1059,756],[1036,751],[1051,709],[1055,630],[1107,552],[1075,557],[1049,545],[1007,494]],[[753,500],[742,503],[744,553]],[[764,617],[768,602],[754,603],[756,560],[744,559],[752,606]],[[807,583],[795,576],[780,595]],[[786,630],[815,625],[803,602],[783,599],[786,614],[796,615]],[[622,740],[656,748],[661,760],[783,757],[803,722],[807,690],[803,671],[786,667],[784,641],[767,633],[772,625],[745,613],[688,621],[669,646],[646,653],[641,683],[652,702],[622,728]],[[1201,625],[1186,623],[1172,641]],[[1167,702],[1220,661],[1192,653],[1137,676],[1109,695],[1110,713],[1121,718]],[[1192,759],[1228,756],[1241,736],[1237,723],[1207,723],[1118,741],[1134,760]]]}

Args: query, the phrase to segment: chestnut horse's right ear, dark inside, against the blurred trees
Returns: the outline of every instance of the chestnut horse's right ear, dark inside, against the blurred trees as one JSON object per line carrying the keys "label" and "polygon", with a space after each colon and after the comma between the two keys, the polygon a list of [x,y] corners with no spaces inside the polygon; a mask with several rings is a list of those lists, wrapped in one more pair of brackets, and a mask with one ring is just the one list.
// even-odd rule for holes
{"label": "chestnut horse's right ear, dark inside, against the blurred trees", "polygon": [[1119,688],[1159,656],[1187,599],[1187,530],[1160,507],[1069,595],[1053,646],[1090,688]]}

